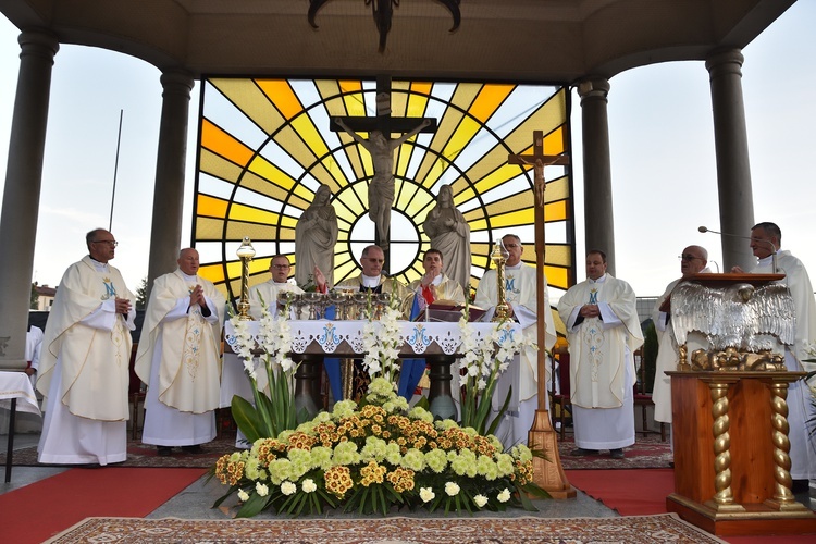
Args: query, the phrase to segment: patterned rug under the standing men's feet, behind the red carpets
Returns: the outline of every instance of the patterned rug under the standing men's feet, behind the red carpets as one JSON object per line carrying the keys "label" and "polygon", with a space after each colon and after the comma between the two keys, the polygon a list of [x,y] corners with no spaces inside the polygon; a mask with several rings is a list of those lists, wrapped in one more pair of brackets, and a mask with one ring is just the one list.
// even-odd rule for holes
{"label": "patterned rug under the standing men's feet, behind the red carpets", "polygon": [[[173,448],[170,457],[159,457],[156,446],[141,444],[139,441],[127,443],[127,460],[118,467],[200,467],[209,468],[215,465],[215,460],[224,454],[235,452],[235,436],[224,433],[224,437],[217,438],[208,444],[202,444],[205,453],[199,455],[187,455],[178,448]],[[625,448],[623,459],[613,459],[608,452],[588,457],[572,457],[569,453],[574,449],[576,444],[572,436],[567,436],[564,442],[558,443],[558,452],[561,457],[561,466],[565,470],[580,469],[665,469],[672,461],[671,450],[668,442],[660,442],[659,435],[643,437],[638,435],[636,442]],[[41,467],[37,462],[36,446],[17,449],[14,452],[14,466],[16,467]],[[5,463],[5,452],[0,453],[0,466]]]}

